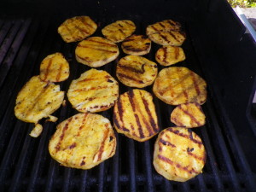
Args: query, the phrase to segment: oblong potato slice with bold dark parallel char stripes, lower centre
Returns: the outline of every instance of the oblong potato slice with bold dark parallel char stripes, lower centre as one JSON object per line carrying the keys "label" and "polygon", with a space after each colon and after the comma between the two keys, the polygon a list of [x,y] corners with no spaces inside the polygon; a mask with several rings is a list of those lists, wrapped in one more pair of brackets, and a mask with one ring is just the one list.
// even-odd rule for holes
{"label": "oblong potato slice with bold dark parallel char stripes, lower centre", "polygon": [[138,142],[160,131],[153,97],[146,90],[130,90],[119,96],[113,107],[115,129]]}

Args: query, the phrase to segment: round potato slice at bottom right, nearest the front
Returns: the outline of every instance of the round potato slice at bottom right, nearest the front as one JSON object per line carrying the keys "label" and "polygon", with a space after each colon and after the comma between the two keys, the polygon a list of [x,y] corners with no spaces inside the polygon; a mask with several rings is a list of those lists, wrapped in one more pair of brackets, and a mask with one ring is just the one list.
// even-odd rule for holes
{"label": "round potato slice at bottom right, nearest the front", "polygon": [[154,168],[168,180],[188,181],[202,172],[206,159],[201,138],[189,129],[166,128],[154,143]]}

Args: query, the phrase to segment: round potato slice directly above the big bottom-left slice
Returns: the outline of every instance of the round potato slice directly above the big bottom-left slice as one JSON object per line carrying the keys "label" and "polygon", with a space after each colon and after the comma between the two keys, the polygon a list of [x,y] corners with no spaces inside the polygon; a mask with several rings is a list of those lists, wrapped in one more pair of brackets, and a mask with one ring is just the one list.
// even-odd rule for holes
{"label": "round potato slice directly above the big bottom-left slice", "polygon": [[118,96],[118,82],[109,73],[93,68],[73,80],[67,90],[73,108],[84,113],[105,111],[113,106]]}

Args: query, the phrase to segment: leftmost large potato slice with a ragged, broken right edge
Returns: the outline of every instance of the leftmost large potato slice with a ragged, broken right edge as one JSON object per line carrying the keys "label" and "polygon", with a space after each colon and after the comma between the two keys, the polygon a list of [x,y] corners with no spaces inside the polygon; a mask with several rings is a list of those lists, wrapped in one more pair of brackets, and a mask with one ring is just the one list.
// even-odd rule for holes
{"label": "leftmost large potato slice with a ragged, broken right edge", "polygon": [[34,76],[20,90],[15,105],[15,116],[29,123],[47,118],[61,107],[64,91],[60,85],[42,81]]}

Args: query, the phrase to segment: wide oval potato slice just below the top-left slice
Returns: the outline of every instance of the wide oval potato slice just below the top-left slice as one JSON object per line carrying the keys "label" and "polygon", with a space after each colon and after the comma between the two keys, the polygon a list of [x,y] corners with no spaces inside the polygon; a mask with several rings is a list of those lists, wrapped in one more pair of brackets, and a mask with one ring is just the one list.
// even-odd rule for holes
{"label": "wide oval potato slice just below the top-left slice", "polygon": [[118,57],[119,48],[106,38],[92,37],[78,44],[75,55],[77,61],[84,65],[102,67]]}

